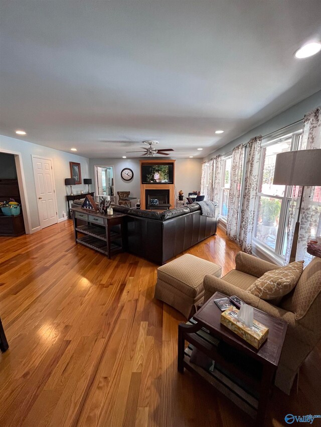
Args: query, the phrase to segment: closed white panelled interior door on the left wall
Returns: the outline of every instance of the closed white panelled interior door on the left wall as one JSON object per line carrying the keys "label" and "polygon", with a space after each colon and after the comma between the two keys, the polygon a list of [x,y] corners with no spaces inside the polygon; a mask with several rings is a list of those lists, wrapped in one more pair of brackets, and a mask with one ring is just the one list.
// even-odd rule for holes
{"label": "closed white panelled interior door on the left wall", "polygon": [[56,224],[56,195],[54,177],[50,159],[33,157],[38,211],[41,228]]}

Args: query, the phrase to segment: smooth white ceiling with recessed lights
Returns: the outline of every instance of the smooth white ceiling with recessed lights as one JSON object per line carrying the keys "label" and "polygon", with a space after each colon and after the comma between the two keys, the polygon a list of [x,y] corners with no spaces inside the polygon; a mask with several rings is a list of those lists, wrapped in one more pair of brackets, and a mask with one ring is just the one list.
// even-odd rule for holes
{"label": "smooth white ceiling with recessed lights", "polygon": [[319,0],[2,0],[0,12],[0,133],[86,157],[145,139],[203,157],[321,88],[321,54],[293,57],[321,39]]}

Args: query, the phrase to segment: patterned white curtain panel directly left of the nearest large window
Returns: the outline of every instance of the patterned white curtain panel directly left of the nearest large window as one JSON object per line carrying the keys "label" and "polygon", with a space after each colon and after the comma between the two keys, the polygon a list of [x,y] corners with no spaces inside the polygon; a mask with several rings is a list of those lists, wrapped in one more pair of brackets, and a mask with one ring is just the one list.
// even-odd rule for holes
{"label": "patterned white curtain panel directly left of the nearest large window", "polygon": [[240,221],[240,247],[246,253],[252,253],[252,234],[255,218],[257,185],[260,170],[260,152],[262,137],[252,138],[246,144],[246,163],[244,191]]}

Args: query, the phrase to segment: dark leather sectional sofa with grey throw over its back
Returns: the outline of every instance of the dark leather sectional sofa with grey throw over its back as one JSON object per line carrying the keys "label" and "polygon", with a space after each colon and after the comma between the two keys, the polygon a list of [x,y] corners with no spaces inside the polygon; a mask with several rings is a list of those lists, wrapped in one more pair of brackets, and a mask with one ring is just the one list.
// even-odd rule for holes
{"label": "dark leather sectional sofa with grey throw over its back", "polygon": [[115,206],[114,210],[127,214],[127,251],[156,264],[164,264],[217,230],[218,209],[215,218],[203,216],[197,203],[164,212],[124,206]]}

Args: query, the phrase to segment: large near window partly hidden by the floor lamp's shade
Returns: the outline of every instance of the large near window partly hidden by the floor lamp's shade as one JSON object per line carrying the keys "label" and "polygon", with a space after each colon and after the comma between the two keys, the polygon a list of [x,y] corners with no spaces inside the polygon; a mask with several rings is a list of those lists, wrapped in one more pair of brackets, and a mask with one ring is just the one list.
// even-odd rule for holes
{"label": "large near window partly hidden by the floor lamp's shade", "polygon": [[296,150],[301,131],[274,141],[262,141],[254,238],[272,254],[283,257],[288,237],[292,187],[273,185],[276,155]]}

